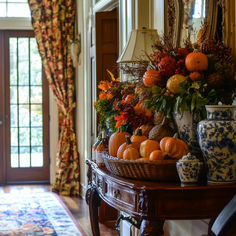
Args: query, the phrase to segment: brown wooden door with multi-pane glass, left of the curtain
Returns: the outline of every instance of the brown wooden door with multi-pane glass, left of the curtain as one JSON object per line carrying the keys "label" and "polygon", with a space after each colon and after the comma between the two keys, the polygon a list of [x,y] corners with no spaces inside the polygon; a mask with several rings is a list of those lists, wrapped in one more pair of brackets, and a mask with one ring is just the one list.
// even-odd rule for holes
{"label": "brown wooden door with multi-pane glass, left of the curtain", "polygon": [[33,31],[0,31],[0,183],[49,182],[49,94]]}

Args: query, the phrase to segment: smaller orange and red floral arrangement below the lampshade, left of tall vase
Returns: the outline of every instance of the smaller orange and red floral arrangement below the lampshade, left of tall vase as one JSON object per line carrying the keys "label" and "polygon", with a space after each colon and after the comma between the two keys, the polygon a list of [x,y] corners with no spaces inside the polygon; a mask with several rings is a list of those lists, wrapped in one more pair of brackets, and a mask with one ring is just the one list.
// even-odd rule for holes
{"label": "smaller orange and red floral arrangement below the lampshade, left of tall vase", "polygon": [[99,115],[99,128],[110,133],[118,128],[132,133],[141,124],[151,121],[152,112],[134,95],[136,83],[121,82],[109,70],[107,72],[111,81],[101,81],[99,97],[94,103]]}

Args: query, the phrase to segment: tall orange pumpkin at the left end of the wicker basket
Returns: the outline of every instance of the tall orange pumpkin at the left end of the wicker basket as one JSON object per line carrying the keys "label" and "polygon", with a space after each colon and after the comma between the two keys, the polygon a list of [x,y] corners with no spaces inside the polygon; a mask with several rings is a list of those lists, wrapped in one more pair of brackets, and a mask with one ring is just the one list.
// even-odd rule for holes
{"label": "tall orange pumpkin at the left end of the wicker basket", "polygon": [[116,157],[118,148],[126,141],[126,135],[130,137],[129,133],[121,131],[115,132],[111,135],[108,145],[108,151],[110,156]]}

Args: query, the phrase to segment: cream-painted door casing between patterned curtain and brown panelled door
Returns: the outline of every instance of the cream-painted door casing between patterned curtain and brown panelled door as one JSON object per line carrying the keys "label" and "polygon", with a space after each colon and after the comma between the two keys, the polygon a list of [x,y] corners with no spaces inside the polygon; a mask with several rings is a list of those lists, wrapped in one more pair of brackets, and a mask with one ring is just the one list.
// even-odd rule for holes
{"label": "cream-painted door casing between patterned curtain and brown panelled door", "polygon": [[[91,21],[95,17],[95,13],[99,11],[111,11],[114,8],[119,9],[119,0],[100,0],[95,4],[95,0],[93,1],[78,1],[78,30],[82,35],[82,49],[81,49],[81,64],[78,66],[78,70],[76,71],[76,81],[77,88],[76,91],[78,95],[78,103],[77,110],[79,112],[76,113],[77,119],[77,136],[78,140],[80,137],[84,137],[83,141],[78,143],[78,151],[81,156],[80,161],[80,171],[81,171],[81,195],[85,196],[87,190],[87,170],[88,167],[85,164],[86,160],[90,158],[90,147],[93,140],[91,140],[91,108],[89,104],[91,101],[91,61],[90,61],[90,29],[91,29]],[[95,49],[96,51],[96,49]],[[95,59],[96,60],[96,59]],[[81,78],[84,78],[81,80]],[[79,88],[83,88],[83,92],[79,91]],[[83,116],[81,115],[83,114]]]}

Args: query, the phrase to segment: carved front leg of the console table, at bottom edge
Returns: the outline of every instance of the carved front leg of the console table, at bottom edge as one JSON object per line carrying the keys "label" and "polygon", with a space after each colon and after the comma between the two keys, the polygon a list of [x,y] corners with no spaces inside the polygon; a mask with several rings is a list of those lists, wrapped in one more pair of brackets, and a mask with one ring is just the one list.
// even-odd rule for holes
{"label": "carved front leg of the console table, at bottom edge", "polygon": [[142,220],[139,236],[162,236],[164,220]]}

